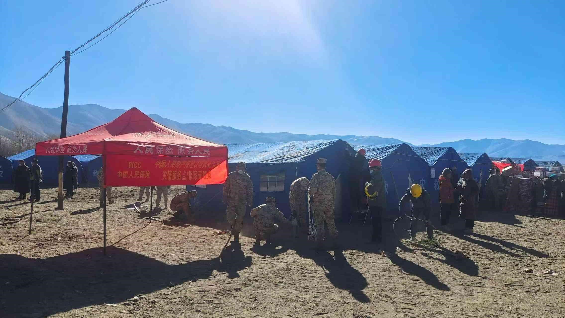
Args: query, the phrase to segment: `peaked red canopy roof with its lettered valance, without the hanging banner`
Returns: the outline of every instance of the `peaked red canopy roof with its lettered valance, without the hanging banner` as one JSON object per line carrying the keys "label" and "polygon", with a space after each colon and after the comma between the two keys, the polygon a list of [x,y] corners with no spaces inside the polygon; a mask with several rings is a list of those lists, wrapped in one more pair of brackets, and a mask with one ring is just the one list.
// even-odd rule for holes
{"label": "peaked red canopy roof with its lettered valance, without the hanging banner", "polygon": [[228,150],[160,125],[135,107],[82,134],[36,144],[38,156],[106,153],[227,157]]}

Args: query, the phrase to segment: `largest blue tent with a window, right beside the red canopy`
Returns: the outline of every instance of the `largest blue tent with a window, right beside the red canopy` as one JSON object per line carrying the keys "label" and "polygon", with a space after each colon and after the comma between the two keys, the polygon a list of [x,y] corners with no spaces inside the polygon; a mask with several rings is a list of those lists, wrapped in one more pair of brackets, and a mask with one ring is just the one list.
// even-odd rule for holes
{"label": "largest blue tent with a window, right beside the red canopy", "polygon": [[[340,218],[342,210],[349,213],[349,191],[345,186],[348,170],[345,164],[345,149],[349,149],[350,154],[354,154],[354,150],[343,140],[227,144],[227,146],[229,171],[235,171],[239,161],[247,164],[247,174],[251,177],[254,188],[253,207],[264,204],[266,197],[275,197],[277,207],[289,217],[290,184],[303,176],[311,179],[316,173],[316,159],[327,158],[326,170],[336,178],[336,218]],[[223,184],[186,188],[189,191],[198,191],[198,197],[193,201],[197,210],[225,211],[225,205],[221,204]],[[248,207],[247,212],[250,210],[251,207]]]}

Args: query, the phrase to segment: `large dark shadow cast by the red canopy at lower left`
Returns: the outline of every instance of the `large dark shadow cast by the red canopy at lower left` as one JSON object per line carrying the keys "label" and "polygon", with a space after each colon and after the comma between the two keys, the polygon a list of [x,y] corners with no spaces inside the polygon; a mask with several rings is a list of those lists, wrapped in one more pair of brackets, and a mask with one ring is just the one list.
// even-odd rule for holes
{"label": "large dark shadow cast by the red canopy at lower left", "polygon": [[106,257],[101,248],[45,259],[0,254],[0,312],[6,318],[44,317],[207,279],[214,270],[237,277],[249,266],[251,257],[237,251],[174,266],[114,246],[108,246]]}

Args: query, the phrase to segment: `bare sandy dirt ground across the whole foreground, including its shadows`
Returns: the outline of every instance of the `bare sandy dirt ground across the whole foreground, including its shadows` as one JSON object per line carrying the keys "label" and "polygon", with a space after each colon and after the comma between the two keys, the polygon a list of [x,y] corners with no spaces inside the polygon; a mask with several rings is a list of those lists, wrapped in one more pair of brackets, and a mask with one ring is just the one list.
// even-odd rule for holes
{"label": "bare sandy dirt ground across the whole foreground, including its shadows", "polygon": [[[436,249],[403,244],[390,222],[384,245],[364,244],[371,225],[354,219],[338,223],[342,251],[317,253],[285,230],[276,246],[254,248],[247,219],[241,249],[219,257],[222,211],[149,224],[127,209],[137,188],[121,187],[104,256],[98,189],[77,192],[55,211],[56,189],[43,189],[28,235],[30,204],[0,191],[1,317],[565,317],[565,274],[543,273],[565,271],[561,219],[482,212],[475,235],[436,231]],[[406,237],[404,223],[394,228]]]}

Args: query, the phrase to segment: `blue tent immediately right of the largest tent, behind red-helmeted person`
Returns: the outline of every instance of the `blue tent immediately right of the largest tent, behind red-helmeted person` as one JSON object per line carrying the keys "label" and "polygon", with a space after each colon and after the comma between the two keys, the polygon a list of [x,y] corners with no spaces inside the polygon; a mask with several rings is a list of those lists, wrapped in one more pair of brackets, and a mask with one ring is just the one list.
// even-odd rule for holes
{"label": "blue tent immediately right of the largest tent, behind red-helmeted person", "polygon": [[379,159],[383,164],[383,176],[386,189],[387,214],[397,215],[398,201],[412,183],[425,186],[428,176],[428,164],[407,144],[393,145],[354,145],[367,152],[367,160]]}

